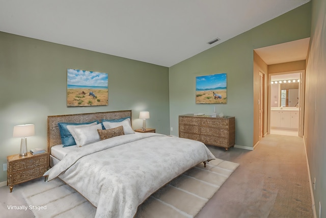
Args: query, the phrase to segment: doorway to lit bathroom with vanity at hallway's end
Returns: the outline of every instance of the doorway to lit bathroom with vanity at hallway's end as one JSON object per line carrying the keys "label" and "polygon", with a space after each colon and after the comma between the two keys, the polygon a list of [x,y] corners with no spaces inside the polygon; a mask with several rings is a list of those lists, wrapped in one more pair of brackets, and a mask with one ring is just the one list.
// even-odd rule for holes
{"label": "doorway to lit bathroom with vanity at hallway's end", "polygon": [[269,75],[269,133],[303,135],[304,70]]}

